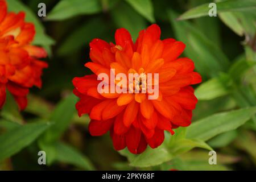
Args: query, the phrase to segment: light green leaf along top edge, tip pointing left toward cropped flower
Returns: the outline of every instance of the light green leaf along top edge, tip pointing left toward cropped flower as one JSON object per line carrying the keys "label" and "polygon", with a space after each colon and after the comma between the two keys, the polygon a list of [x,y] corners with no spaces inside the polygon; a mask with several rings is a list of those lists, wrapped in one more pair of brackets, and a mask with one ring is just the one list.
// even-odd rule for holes
{"label": "light green leaf along top edge, tip pointing left toward cropped flower", "polygon": [[47,20],[64,20],[82,14],[96,14],[101,11],[101,4],[98,0],[61,0],[50,13]]}

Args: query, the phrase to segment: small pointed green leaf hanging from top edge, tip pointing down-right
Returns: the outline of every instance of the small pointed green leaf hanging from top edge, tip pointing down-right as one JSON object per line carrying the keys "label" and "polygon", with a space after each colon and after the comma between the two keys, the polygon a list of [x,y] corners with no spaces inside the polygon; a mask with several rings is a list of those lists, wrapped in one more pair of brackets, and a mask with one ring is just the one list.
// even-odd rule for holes
{"label": "small pointed green leaf hanging from top edge, tip pointing down-right", "polygon": [[155,22],[151,0],[126,0],[139,14],[151,23]]}

